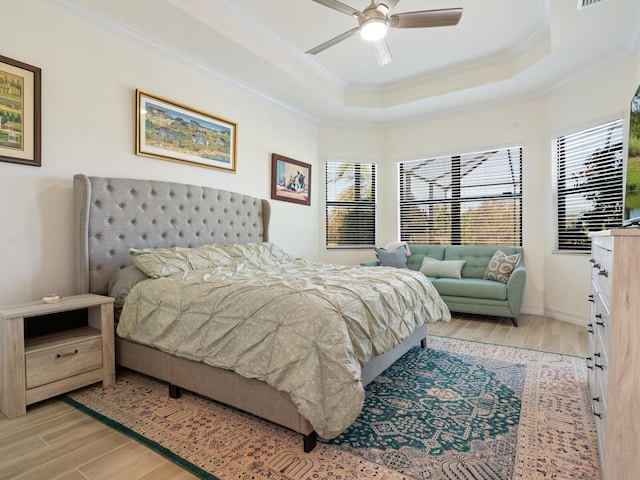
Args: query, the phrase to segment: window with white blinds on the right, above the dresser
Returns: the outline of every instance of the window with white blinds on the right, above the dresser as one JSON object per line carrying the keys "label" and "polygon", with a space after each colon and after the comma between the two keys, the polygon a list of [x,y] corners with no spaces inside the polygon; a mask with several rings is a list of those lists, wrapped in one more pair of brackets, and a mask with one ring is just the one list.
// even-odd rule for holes
{"label": "window with white blinds on the right, above the dresser", "polygon": [[589,251],[589,232],[622,225],[622,120],[554,140],[558,250]]}

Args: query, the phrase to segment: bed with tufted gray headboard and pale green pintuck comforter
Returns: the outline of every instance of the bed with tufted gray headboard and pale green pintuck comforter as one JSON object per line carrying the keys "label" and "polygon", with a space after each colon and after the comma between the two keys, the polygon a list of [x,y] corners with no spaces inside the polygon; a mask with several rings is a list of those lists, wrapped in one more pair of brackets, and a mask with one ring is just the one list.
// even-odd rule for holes
{"label": "bed with tufted gray headboard and pale green pintuck comforter", "polygon": [[[421,280],[421,275],[416,272],[388,269],[385,281],[371,278],[367,281],[377,283],[358,287],[356,277],[373,275],[371,273],[373,271],[384,272],[384,269],[329,266],[293,259],[269,242],[271,210],[266,200],[195,185],[88,177],[82,174],[74,176],[73,190],[74,289],[76,293],[109,294],[110,288],[113,289],[114,279],[118,279],[115,282],[117,283],[124,277],[125,272],[137,270],[137,267],[144,269],[145,266],[140,263],[140,258],[155,260],[154,256],[158,251],[162,255],[177,255],[180,258],[188,257],[189,259],[188,268],[185,267],[177,273],[168,271],[166,275],[160,272],[159,278],[147,279],[145,275],[144,281],[139,281],[131,287],[118,325],[117,364],[167,382],[172,396],[179,395],[180,388],[183,388],[298,432],[303,436],[303,448],[307,452],[315,446],[316,431],[322,437],[331,438],[344,430],[345,421],[349,423],[348,419],[353,416],[353,409],[361,408],[363,385],[373,380],[410,348],[418,344],[425,346],[428,322],[450,318],[446,305],[433,286],[428,281]],[[206,252],[205,255],[202,255],[203,251]],[[211,258],[214,258],[215,262],[207,266],[211,269],[193,267],[192,264],[197,263],[192,261],[194,252],[197,253],[198,259],[204,257],[207,261],[211,261]],[[136,257],[137,254],[140,254],[140,258]],[[132,267],[134,258],[136,268]],[[221,258],[225,260],[221,262]],[[253,259],[253,263],[249,261],[250,259]],[[166,257],[162,257],[160,263],[161,269],[165,268]],[[281,271],[283,266],[287,269],[293,268],[295,273],[283,275]],[[317,273],[318,269],[324,270],[322,274]],[[375,275],[384,275],[384,273]],[[283,277],[284,280],[282,280]],[[286,284],[284,286],[283,281]],[[325,292],[324,284],[327,282],[335,284],[333,292],[336,288],[343,291],[331,294]],[[411,288],[405,289],[405,283]],[[241,294],[220,293],[227,292],[227,289],[232,287],[236,288],[234,287],[236,284],[241,286]],[[349,288],[345,288],[347,284]],[[197,289],[198,293],[191,295],[191,293],[173,293],[175,290],[170,290],[172,293],[168,295],[166,292],[169,290],[166,289],[177,288],[176,285],[189,289],[189,292]],[[374,288],[370,288],[371,285]],[[254,290],[248,290],[249,288]],[[293,288],[294,294],[282,293],[289,292],[287,288]],[[399,290],[402,294],[398,298],[393,297],[394,293],[391,290]],[[268,299],[269,292],[280,292],[276,297],[277,301]],[[193,303],[187,304],[184,299],[190,295],[194,297],[191,300]],[[153,328],[162,326],[164,320],[160,319],[164,317],[153,317],[153,321],[146,324],[139,320],[142,317],[151,318],[158,311],[164,312],[163,314],[168,310],[178,311],[178,314],[175,314],[176,321],[177,317],[180,317],[181,321],[182,317],[188,319],[181,324],[185,326],[180,328],[189,329],[192,328],[194,319],[197,320],[202,316],[199,312],[202,306],[206,305],[202,302],[209,302],[209,298],[215,295],[217,295],[215,311],[218,313],[211,314],[212,318],[207,318],[201,325],[194,327],[195,330],[189,330],[184,337],[190,339],[189,341],[162,344],[166,330],[150,333],[152,329],[149,326],[152,325]],[[331,295],[336,295],[335,299]],[[289,313],[278,313],[282,307],[279,305],[281,298],[287,296],[295,297],[295,308],[290,305],[287,311]],[[261,300],[263,297],[264,300]],[[344,303],[344,298],[348,299],[347,303]],[[116,300],[118,303],[118,299]],[[197,304],[196,301],[201,303]],[[153,306],[147,308],[150,302],[153,302]],[[337,317],[344,317],[345,311],[349,311],[351,306],[358,311],[376,310],[386,309],[386,306],[381,307],[381,305],[393,302],[399,304],[398,308],[403,312],[400,315],[401,321],[396,319],[390,321],[390,325],[379,328],[362,327],[358,322],[353,324],[355,326],[339,326],[340,320]],[[219,313],[223,312],[219,309],[222,308],[219,307],[222,304],[238,306],[235,310],[251,307],[252,318],[257,315],[257,311],[260,312],[258,315],[261,319],[260,323],[254,322],[253,327],[248,330],[245,325],[247,321],[244,319],[244,330],[235,326],[228,327],[231,325],[228,319],[239,317],[241,314],[236,314],[235,311],[229,313],[229,310]],[[275,308],[276,304],[277,310],[270,310]],[[239,308],[240,306],[243,308]],[[142,311],[144,313],[141,313]],[[356,314],[347,316],[349,315],[354,318],[357,316]],[[303,317],[312,319],[316,326],[307,326],[298,321]],[[211,326],[214,320],[220,322],[222,318],[227,323]],[[144,330],[145,335],[155,335],[156,339],[160,339],[160,343],[155,343],[155,340],[147,342],[146,337],[137,337],[135,333],[137,327],[129,327],[137,324],[141,325],[138,331]],[[299,375],[304,369],[299,368],[302,365],[300,358],[306,359],[311,355],[305,353],[295,361],[280,360],[278,363],[273,360],[281,357],[283,350],[296,350],[293,347],[289,348],[292,342],[295,343],[293,340],[286,340],[284,345],[286,348],[283,348],[283,341],[280,341],[280,348],[275,350],[275,353],[263,354],[267,355],[264,358],[268,358],[268,362],[277,364],[277,368],[274,367],[271,369],[273,371],[266,373],[256,366],[261,362],[257,353],[255,359],[258,360],[252,363],[247,359],[253,358],[254,354],[247,355],[243,352],[242,355],[236,355],[234,350],[223,351],[221,355],[225,359],[232,354],[238,357],[236,360],[229,361],[228,364],[226,360],[220,362],[218,360],[222,358],[220,356],[212,359],[210,358],[212,355],[206,353],[197,355],[190,353],[194,348],[196,350],[200,348],[200,344],[203,343],[194,341],[194,339],[205,337],[198,332],[208,329],[207,338],[210,335],[215,336],[216,332],[227,327],[230,331],[243,332],[236,334],[235,337],[225,333],[223,341],[217,338],[215,342],[209,342],[215,345],[224,344],[226,348],[227,344],[232,344],[238,339],[245,341],[250,338],[254,328],[267,328],[265,324],[273,324],[275,332],[284,330],[293,332],[293,329],[298,329],[294,332],[295,336],[291,337],[295,342],[300,340],[299,345],[296,343],[299,346],[299,348],[296,347],[297,350],[305,352],[317,350],[321,353],[313,358],[328,357],[329,363],[314,367],[318,368],[318,374],[307,372],[306,380],[301,379]],[[323,329],[322,325],[325,324],[327,327]],[[174,329],[174,324],[170,325],[171,329]],[[352,342],[349,335],[352,334],[352,330],[358,329],[371,329],[372,332],[378,332],[373,336],[380,337],[384,341],[381,344],[377,343],[378,340]],[[307,331],[314,333],[310,334]],[[338,337],[336,332],[341,336],[339,341],[334,341]],[[321,340],[312,338],[314,335],[323,335],[323,337]],[[235,340],[229,341],[231,338]],[[279,337],[273,332],[267,332],[264,338]],[[253,342],[255,345],[252,345],[260,344],[262,348],[265,347],[263,344],[268,343],[256,340]],[[348,343],[347,347],[344,347],[345,343]],[[333,350],[334,347],[345,349],[346,353],[342,353],[342,350]],[[184,350],[186,348],[188,350]],[[315,365],[315,360],[311,363]],[[345,366],[346,373],[342,372],[342,365]],[[281,366],[283,369],[280,370]],[[331,371],[333,375],[338,367],[341,370],[337,375],[343,383],[339,386],[331,386],[334,377],[325,381],[323,372]],[[321,385],[316,389],[316,383],[324,386]],[[309,385],[313,385],[313,388],[310,389]],[[329,385],[331,396],[325,391],[318,393],[322,395],[321,397],[304,396],[310,390],[313,390],[312,395],[316,395],[322,388],[326,389],[326,385]],[[337,400],[334,399],[334,395],[338,395]],[[348,405],[350,411],[345,413],[346,420],[333,417],[325,419],[325,416],[333,415],[333,410],[340,410],[328,408],[327,405],[331,403],[327,400],[329,403],[325,405],[325,398],[337,401],[337,404]]]}

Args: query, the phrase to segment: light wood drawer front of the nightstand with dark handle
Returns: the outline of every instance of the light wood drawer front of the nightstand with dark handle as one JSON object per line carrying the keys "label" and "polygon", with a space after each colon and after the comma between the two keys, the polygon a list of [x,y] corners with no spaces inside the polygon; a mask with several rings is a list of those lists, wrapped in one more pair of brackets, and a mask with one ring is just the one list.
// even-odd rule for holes
{"label": "light wood drawer front of the nightstand with dark handle", "polygon": [[102,368],[102,339],[54,344],[25,355],[27,389]]}

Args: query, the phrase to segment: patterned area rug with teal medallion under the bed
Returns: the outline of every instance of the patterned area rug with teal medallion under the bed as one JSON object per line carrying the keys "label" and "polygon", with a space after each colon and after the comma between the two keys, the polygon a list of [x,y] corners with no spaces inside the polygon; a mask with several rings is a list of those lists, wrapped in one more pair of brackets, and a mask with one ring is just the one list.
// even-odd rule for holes
{"label": "patterned area rug with teal medallion under the bed", "polygon": [[209,479],[599,480],[584,359],[429,336],[367,386],[355,424],[301,437],[128,371],[66,401]]}

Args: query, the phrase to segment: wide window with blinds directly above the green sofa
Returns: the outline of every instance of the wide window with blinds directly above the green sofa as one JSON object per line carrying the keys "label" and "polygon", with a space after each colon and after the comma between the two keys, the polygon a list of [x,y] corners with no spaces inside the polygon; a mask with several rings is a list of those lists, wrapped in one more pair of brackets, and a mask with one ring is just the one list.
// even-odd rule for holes
{"label": "wide window with blinds directly above the green sofa", "polygon": [[522,147],[400,163],[400,239],[522,245]]}

